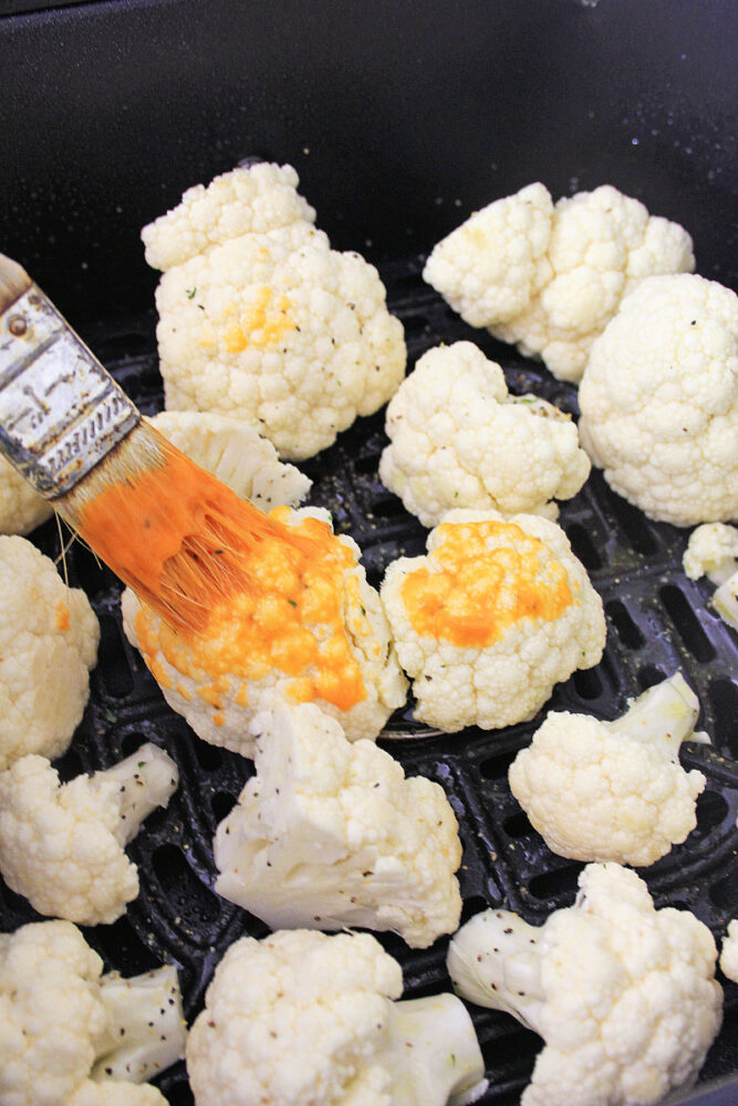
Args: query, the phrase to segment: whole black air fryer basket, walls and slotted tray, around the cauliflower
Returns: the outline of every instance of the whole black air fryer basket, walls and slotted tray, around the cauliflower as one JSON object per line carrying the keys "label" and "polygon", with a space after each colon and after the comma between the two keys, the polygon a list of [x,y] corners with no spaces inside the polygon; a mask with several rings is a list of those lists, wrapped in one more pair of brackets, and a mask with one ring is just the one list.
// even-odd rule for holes
{"label": "whole black air fryer basket, walls and slotted tray, around the cauliflower", "polygon": [[[424,284],[425,255],[471,211],[533,180],[554,198],[613,184],[690,231],[698,272],[738,284],[738,14],[725,0],[18,0],[1,11],[0,251],[21,261],[146,413],[160,408],[162,384],[156,274],[141,228],[246,157],[292,164],[334,248],[378,265],[408,367],[432,345],[469,338],[503,365],[513,392],[574,414],[574,388],[471,331]],[[311,501],[355,538],[375,584],[391,560],[420,552],[426,533],[377,480],[385,440],[380,414],[302,466]],[[709,607],[711,587],[682,572],[687,532],[649,522],[599,473],[561,523],[603,597],[609,637],[602,662],[559,686],[550,706],[612,718],[682,668],[713,739],[687,743],[682,759],[707,787],[688,841],[642,874],[658,906],[694,910],[719,940],[738,916],[738,636]],[[58,554],[53,523],[33,540]],[[126,974],[174,960],[191,1018],[228,945],[266,932],[212,891],[211,837],[250,762],[199,741],[168,710],[123,637],[112,574],[79,547],[67,563],[95,605],[102,645],[63,776],[143,740],[181,770],[168,811],[131,847],[139,898],[85,936]],[[454,804],[465,918],[489,904],[541,922],[573,900],[582,866],[542,845],[507,785],[537,721],[386,744]],[[423,734],[408,711],[391,729]],[[3,930],[35,917],[0,883]],[[407,995],[448,989],[447,941],[418,952],[380,939],[403,964]],[[725,1025],[680,1102],[738,1103],[738,989],[720,980]],[[490,1078],[484,1102],[513,1106],[540,1039],[507,1015],[472,1014]],[[173,1106],[191,1103],[184,1065],[159,1085]]]}

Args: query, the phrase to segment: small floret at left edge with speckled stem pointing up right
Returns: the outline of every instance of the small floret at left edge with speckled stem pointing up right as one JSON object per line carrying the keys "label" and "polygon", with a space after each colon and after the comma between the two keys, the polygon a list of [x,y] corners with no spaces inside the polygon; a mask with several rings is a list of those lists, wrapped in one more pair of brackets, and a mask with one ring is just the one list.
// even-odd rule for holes
{"label": "small floret at left edge with speckled stem pointing up right", "polygon": [[43,915],[108,925],[138,894],[124,846],[179,780],[162,749],[142,745],[110,769],[60,784],[44,757],[0,773],[0,873]]}

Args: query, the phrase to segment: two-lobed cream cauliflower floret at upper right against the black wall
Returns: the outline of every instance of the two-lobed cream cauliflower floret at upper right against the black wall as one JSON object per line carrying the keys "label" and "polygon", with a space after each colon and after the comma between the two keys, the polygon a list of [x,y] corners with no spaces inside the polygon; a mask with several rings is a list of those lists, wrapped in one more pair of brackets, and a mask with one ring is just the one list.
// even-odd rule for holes
{"label": "two-lobed cream cauliflower floret at upper right against the black wall", "polygon": [[644,276],[694,267],[687,231],[612,185],[554,205],[539,182],[476,211],[438,242],[423,275],[469,325],[576,383]]}

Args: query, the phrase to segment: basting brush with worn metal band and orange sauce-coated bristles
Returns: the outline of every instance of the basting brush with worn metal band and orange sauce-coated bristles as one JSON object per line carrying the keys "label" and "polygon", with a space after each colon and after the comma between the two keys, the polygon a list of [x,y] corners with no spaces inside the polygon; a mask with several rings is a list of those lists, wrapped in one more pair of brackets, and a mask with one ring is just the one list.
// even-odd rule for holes
{"label": "basting brush with worn metal band and orange sauce-coated bristles", "polygon": [[15,261],[0,254],[0,452],[173,628],[252,588],[292,534],[177,450]]}

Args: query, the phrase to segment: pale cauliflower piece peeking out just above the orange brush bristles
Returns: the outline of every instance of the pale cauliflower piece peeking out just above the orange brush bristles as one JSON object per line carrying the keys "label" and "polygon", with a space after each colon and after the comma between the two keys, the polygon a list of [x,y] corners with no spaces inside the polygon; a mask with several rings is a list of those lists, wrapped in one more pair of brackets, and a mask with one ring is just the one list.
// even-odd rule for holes
{"label": "pale cauliflower piece peeking out just above the orange brush bristles", "polygon": [[215,411],[159,411],[148,420],[173,446],[262,511],[297,507],[312,480],[283,465],[271,441],[248,422]]}

